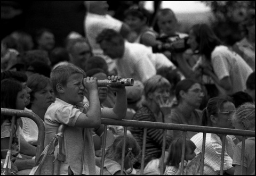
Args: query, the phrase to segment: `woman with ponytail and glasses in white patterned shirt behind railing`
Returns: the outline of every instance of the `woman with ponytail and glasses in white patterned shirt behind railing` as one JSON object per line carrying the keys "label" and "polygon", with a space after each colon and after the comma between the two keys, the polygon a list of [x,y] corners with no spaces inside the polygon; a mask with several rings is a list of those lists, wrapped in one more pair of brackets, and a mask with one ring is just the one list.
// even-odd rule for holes
{"label": "woman with ponytail and glasses in white patterned shirt behind railing", "polygon": [[[203,113],[204,124],[209,127],[233,128],[231,123],[231,115],[236,110],[235,105],[229,97],[214,97],[209,100],[207,107]],[[197,133],[190,140],[196,145],[195,152],[201,152],[203,143],[203,133]],[[227,174],[234,174],[232,166],[235,144],[232,137],[227,135],[225,145],[225,155],[223,171]],[[204,156],[204,174],[218,175],[220,174],[222,150],[222,135],[206,133],[205,156]]]}

